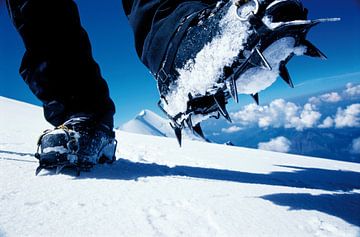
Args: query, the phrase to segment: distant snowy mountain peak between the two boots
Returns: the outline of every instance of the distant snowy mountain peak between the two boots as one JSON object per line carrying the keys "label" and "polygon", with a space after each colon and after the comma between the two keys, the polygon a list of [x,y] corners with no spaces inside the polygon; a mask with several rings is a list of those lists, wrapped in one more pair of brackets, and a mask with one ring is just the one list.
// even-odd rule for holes
{"label": "distant snowy mountain peak between the two boots", "polygon": [[[134,119],[123,124],[120,130],[143,135],[175,137],[174,130],[171,128],[169,121],[151,110],[141,111]],[[183,129],[183,138],[204,141],[204,139],[194,135],[188,129]]]}

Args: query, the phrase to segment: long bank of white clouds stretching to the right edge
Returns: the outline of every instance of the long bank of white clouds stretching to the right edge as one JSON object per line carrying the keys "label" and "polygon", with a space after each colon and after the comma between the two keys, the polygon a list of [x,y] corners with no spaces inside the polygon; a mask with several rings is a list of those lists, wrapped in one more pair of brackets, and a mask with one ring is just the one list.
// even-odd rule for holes
{"label": "long bank of white clouds stretching to the right edge", "polygon": [[[258,126],[268,128],[294,128],[303,131],[309,128],[347,128],[360,127],[360,104],[355,103],[346,108],[339,107],[333,115],[323,118],[319,107],[329,103],[337,103],[345,98],[360,96],[360,85],[348,83],[346,89],[339,94],[330,92],[320,96],[311,97],[301,106],[284,99],[276,99],[269,105],[257,106],[249,104],[238,112],[232,113],[234,122],[241,127]],[[223,132],[237,132],[240,126],[223,129]]]}

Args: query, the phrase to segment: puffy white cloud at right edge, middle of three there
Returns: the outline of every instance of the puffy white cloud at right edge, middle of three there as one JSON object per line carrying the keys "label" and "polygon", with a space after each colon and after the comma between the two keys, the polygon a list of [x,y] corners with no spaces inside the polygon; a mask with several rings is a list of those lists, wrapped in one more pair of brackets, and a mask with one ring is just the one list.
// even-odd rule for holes
{"label": "puffy white cloud at right edge, middle of three there", "polygon": [[360,127],[360,104],[349,105],[346,109],[338,108],[335,127]]}

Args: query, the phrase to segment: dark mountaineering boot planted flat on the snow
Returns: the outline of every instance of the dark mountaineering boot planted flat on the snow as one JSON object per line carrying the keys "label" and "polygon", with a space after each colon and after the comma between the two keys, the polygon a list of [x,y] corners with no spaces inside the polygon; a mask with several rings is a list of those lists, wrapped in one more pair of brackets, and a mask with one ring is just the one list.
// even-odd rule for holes
{"label": "dark mountaineering boot planted flat on the snow", "polygon": [[115,161],[117,141],[111,128],[96,123],[90,116],[74,117],[53,130],[46,130],[39,138],[39,159],[36,175],[42,169],[63,168],[89,170],[95,164]]}

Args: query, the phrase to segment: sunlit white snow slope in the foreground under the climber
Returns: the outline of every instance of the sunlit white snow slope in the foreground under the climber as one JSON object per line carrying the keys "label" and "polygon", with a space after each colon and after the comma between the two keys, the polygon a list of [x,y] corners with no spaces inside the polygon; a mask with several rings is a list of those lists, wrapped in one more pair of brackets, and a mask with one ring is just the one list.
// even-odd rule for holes
{"label": "sunlit white snow slope in the foreground under the climber", "polygon": [[0,236],[360,235],[360,164],[118,131],[113,165],[36,177],[46,128],[0,97]]}

